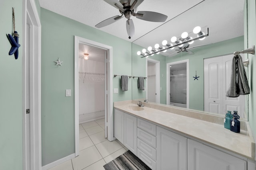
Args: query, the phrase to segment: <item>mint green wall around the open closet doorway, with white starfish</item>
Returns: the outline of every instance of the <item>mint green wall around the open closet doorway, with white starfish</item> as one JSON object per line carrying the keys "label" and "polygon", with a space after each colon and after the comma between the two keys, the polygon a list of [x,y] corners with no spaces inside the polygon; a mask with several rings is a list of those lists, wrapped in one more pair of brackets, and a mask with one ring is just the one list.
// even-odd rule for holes
{"label": "mint green wall around the open closet doorway, with white starfish", "polygon": [[[41,8],[42,24],[42,166],[75,152],[74,36],[113,47],[113,74],[131,75],[131,43]],[[126,32],[124,32],[126,33]],[[54,63],[60,57],[62,66]],[[132,98],[132,81],[122,92],[120,77],[113,78],[113,101]],[[67,147],[68,146],[68,147]]]}

